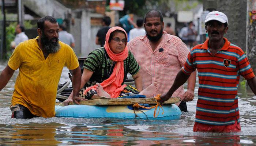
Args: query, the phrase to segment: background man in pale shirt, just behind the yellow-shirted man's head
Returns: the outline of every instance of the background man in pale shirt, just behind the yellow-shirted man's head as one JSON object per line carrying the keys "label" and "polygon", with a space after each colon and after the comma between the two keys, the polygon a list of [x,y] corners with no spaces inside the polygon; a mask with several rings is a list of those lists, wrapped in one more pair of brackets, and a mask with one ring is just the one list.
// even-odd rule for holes
{"label": "background man in pale shirt, just behind the yellow-shirted man's head", "polygon": [[66,31],[66,28],[63,25],[59,25],[59,40],[74,49],[75,39],[72,34]]}

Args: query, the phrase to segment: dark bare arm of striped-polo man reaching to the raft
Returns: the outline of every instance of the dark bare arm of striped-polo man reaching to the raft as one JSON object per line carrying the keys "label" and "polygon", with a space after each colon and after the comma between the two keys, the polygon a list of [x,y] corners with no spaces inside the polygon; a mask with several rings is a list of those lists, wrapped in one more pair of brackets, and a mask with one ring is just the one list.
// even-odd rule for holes
{"label": "dark bare arm of striped-polo man reaching to the raft", "polygon": [[170,88],[170,90],[161,95],[160,98],[161,100],[159,100],[159,102],[162,104],[163,102],[165,102],[166,100],[168,100],[170,97],[172,97],[173,93],[181,86],[183,85],[189,78],[190,75],[185,74],[182,72],[182,69],[180,70],[180,72],[178,72],[172,87]]}

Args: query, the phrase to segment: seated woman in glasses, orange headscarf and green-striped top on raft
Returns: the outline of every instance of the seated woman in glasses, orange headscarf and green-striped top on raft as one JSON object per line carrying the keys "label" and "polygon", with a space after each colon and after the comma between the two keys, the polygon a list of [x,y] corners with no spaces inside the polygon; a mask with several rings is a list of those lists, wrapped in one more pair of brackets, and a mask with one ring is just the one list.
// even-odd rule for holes
{"label": "seated woman in glasses, orange headscarf and green-striped top on raft", "polygon": [[[102,96],[117,98],[136,94],[151,96],[155,93],[156,84],[151,84],[142,91],[140,67],[127,49],[127,34],[121,27],[109,29],[104,47],[93,50],[84,61],[83,67],[80,96],[84,99]],[[124,84],[128,72],[132,75],[136,88]],[[72,102],[71,95],[64,101],[64,105]]]}

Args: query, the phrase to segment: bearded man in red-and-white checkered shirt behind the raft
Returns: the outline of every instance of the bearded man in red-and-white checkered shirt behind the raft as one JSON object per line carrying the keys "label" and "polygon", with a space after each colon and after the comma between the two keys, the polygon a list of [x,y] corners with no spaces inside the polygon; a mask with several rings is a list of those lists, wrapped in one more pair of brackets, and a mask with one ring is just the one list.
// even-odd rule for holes
{"label": "bearded man in red-and-white checkered shirt behind the raft", "polygon": [[[157,10],[148,11],[144,17],[146,35],[128,42],[128,49],[140,66],[142,88],[157,82],[156,94],[166,93],[184,65],[189,50],[180,38],[163,31],[163,15]],[[173,93],[173,97],[194,98],[196,72],[188,79],[188,90],[183,87]],[[181,111],[187,112],[185,101],[177,103]]]}

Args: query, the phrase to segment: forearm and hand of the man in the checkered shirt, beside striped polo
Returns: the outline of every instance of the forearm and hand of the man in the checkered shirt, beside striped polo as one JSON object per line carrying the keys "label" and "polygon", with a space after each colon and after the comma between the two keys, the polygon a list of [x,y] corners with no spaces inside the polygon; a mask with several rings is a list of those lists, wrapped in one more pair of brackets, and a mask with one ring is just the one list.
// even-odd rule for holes
{"label": "forearm and hand of the man in the checkered shirt, beside striped polo", "polygon": [[194,99],[195,84],[196,84],[196,71],[192,72],[190,77],[188,78],[188,90],[185,92],[181,100],[192,101]]}

